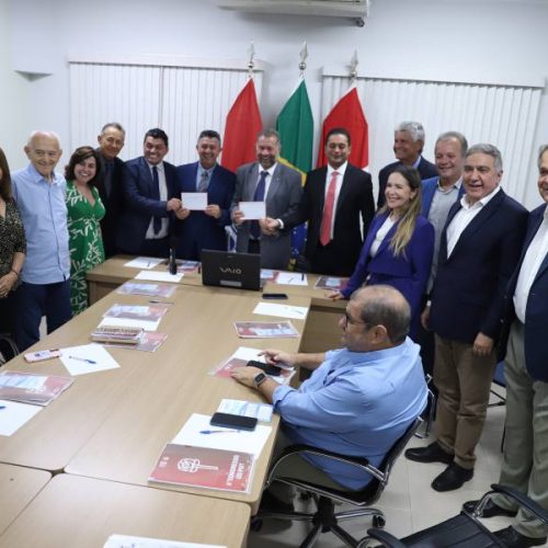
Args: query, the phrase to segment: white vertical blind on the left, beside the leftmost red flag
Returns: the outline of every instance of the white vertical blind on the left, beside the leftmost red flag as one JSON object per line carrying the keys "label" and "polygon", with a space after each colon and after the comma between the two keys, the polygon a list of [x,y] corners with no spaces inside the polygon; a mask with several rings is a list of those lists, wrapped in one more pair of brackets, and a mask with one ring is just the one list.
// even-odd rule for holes
{"label": "white vertical blind on the left, beside the leftmost red flag", "polygon": [[[70,151],[95,146],[101,127],[119,122],[126,129],[122,159],[141,156],[145,133],[161,127],[170,138],[167,160],[194,161],[197,135],[216,129],[222,137],[226,115],[248,77],[231,68],[71,62]],[[254,80],[260,98],[261,71]]]}

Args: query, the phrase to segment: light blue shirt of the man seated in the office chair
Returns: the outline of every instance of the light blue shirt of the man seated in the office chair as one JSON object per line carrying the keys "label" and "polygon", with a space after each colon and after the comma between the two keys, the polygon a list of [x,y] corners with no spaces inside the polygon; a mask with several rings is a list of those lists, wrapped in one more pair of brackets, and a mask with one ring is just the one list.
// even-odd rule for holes
{"label": "light blue shirt of the man seated in the office chair", "polygon": [[[426,385],[411,339],[376,352],[328,352],[326,362],[298,390],[274,390],[284,431],[297,444],[309,444],[380,465],[396,439],[426,404]],[[309,460],[351,489],[370,481],[357,468],[321,457]]]}

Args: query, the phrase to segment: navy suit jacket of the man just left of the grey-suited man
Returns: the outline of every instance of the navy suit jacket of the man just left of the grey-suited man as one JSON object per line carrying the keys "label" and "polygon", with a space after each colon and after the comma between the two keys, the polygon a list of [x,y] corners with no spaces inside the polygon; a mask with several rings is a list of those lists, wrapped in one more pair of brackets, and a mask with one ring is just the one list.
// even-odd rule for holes
{"label": "navy suit jacket of the man just left of the grey-suited man", "polygon": [[[176,168],[176,193],[196,192],[198,162]],[[236,175],[222,165],[216,165],[207,186],[207,203],[218,205],[221,215],[218,219],[203,212],[191,212],[186,219],[175,219],[176,256],[199,261],[203,249],[226,251],[227,235],[225,227],[230,225],[230,204],[235,193]]]}

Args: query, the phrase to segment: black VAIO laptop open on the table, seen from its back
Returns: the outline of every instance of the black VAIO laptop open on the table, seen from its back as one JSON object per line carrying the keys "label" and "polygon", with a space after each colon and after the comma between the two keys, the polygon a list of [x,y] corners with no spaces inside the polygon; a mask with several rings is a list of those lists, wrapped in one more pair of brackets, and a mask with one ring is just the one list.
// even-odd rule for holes
{"label": "black VAIO laptop open on the table, seen from its back", "polygon": [[202,283],[238,289],[261,289],[261,255],[202,250]]}

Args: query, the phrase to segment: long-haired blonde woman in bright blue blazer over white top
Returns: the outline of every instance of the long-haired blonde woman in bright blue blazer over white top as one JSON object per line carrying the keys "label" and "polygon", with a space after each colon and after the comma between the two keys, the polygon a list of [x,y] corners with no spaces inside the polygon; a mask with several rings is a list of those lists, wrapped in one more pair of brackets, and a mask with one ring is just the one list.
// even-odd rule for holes
{"label": "long-haired blonde woman in bright blue blazer over white top", "polygon": [[390,173],[385,197],[349,284],[331,298],[347,299],[362,285],[391,285],[411,307],[413,336],[432,266],[434,227],[420,215],[421,176],[415,169],[402,165]]}

